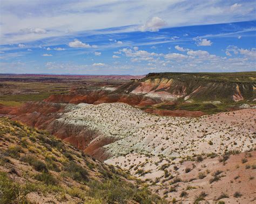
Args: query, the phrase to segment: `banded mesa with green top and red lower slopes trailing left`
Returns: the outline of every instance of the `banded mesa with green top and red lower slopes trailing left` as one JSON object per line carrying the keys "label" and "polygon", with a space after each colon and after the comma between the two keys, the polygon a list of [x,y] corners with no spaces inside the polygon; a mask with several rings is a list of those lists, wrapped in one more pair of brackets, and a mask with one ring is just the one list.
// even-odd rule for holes
{"label": "banded mesa with green top and red lower slopes trailing left", "polygon": [[201,116],[255,105],[256,73],[150,73],[140,80],[97,90],[73,90],[46,102],[122,102],[146,112],[171,116]]}

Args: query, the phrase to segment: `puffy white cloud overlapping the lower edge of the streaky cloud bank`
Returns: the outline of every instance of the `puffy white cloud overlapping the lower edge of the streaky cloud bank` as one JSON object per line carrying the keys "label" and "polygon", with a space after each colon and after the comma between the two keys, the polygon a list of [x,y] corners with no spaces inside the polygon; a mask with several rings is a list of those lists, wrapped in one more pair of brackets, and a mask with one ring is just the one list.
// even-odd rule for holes
{"label": "puffy white cloud overlapping the lower edge of the streaky cloud bank", "polygon": [[140,26],[139,31],[157,32],[159,31],[159,29],[161,29],[161,27],[164,27],[166,25],[167,23],[163,19],[159,17],[153,17],[147,20],[147,22],[144,25]]}

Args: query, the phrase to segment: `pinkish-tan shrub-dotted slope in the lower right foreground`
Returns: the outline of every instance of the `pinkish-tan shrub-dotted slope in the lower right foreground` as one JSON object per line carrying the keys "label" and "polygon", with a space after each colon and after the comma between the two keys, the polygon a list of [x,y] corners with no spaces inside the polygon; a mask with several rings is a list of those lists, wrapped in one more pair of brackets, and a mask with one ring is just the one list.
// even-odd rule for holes
{"label": "pinkish-tan shrub-dotted slope in the lower right foreground", "polygon": [[153,192],[170,202],[255,203],[256,152],[230,154],[183,159],[132,153],[105,163],[147,181]]}

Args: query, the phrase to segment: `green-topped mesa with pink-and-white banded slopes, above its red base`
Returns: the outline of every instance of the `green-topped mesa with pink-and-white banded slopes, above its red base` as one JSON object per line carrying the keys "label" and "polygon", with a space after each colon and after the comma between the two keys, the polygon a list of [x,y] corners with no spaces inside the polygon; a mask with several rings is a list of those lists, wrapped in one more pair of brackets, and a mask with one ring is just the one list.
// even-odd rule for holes
{"label": "green-topped mesa with pink-and-white banded slopes, above its red base", "polygon": [[240,101],[255,97],[256,73],[150,73],[117,92],[166,100]]}

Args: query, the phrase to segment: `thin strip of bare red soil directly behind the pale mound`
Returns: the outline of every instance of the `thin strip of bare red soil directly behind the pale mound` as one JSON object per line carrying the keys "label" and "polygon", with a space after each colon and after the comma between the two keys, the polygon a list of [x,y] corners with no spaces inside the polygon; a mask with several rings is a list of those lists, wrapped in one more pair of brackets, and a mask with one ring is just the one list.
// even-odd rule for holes
{"label": "thin strip of bare red soil directly behind the pale mound", "polygon": [[145,112],[149,112],[151,114],[157,114],[161,116],[173,116],[173,117],[200,117],[206,115],[205,112],[202,111],[187,111],[187,110],[159,110],[147,108],[144,110]]}

